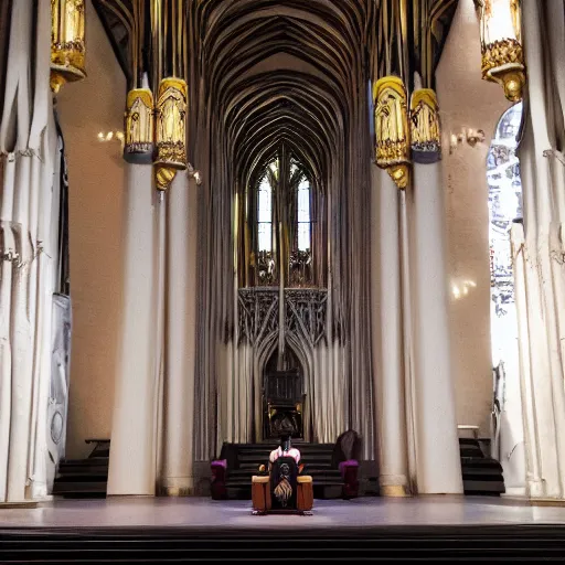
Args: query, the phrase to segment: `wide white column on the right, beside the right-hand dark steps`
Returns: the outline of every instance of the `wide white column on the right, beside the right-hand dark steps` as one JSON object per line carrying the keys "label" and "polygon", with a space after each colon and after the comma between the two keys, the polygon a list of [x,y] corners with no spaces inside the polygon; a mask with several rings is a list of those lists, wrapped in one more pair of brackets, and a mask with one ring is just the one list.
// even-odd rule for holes
{"label": "wide white column on the right, beside the right-hand dark steps", "polygon": [[440,163],[415,164],[413,185],[411,273],[418,492],[462,493],[449,344]]}

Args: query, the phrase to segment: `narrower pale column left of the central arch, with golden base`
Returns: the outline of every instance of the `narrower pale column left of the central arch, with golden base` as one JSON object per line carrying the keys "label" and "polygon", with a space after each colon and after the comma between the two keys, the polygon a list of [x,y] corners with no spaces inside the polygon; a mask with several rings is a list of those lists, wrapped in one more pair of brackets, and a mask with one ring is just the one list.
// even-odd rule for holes
{"label": "narrower pale column left of the central arch, with golden base", "polygon": [[[194,490],[194,367],[196,339],[198,186],[179,173],[169,192],[164,365],[163,490]],[[227,275],[226,275],[227,276]]]}

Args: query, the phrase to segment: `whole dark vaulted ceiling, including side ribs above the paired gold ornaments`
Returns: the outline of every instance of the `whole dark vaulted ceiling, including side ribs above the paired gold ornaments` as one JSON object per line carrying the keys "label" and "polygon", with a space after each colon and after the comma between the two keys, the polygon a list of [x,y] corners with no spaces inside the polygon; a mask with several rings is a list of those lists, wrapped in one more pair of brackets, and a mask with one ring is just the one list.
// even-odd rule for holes
{"label": "whole dark vaulted ceiling, including side ribs above the paired gold ornaments", "polygon": [[327,178],[353,151],[352,138],[366,134],[359,124],[366,129],[370,78],[397,74],[411,89],[419,73],[424,86],[434,87],[458,0],[93,3],[130,86],[141,72],[154,78],[149,14],[169,10],[167,33],[177,34],[186,54],[190,153],[202,142],[222,145],[232,179],[246,184],[281,147],[312,179]]}

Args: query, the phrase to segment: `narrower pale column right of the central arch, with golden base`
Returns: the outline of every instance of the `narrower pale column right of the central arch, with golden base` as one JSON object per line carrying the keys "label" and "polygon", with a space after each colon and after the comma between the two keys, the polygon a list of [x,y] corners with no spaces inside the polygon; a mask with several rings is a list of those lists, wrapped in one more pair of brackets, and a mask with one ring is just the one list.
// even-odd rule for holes
{"label": "narrower pale column right of the central arch, with golden base", "polygon": [[386,171],[372,166],[371,335],[379,482],[383,495],[404,495],[407,487],[404,399],[402,279],[398,189]]}

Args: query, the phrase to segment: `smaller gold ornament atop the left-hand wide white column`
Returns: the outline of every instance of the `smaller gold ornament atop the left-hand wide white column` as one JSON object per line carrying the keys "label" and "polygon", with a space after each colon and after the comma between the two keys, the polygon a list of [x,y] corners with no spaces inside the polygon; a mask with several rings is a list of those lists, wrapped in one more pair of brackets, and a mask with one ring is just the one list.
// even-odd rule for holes
{"label": "smaller gold ornament atop the left-hand wide white column", "polygon": [[124,159],[146,164],[153,160],[153,94],[149,88],[134,88],[127,97]]}

